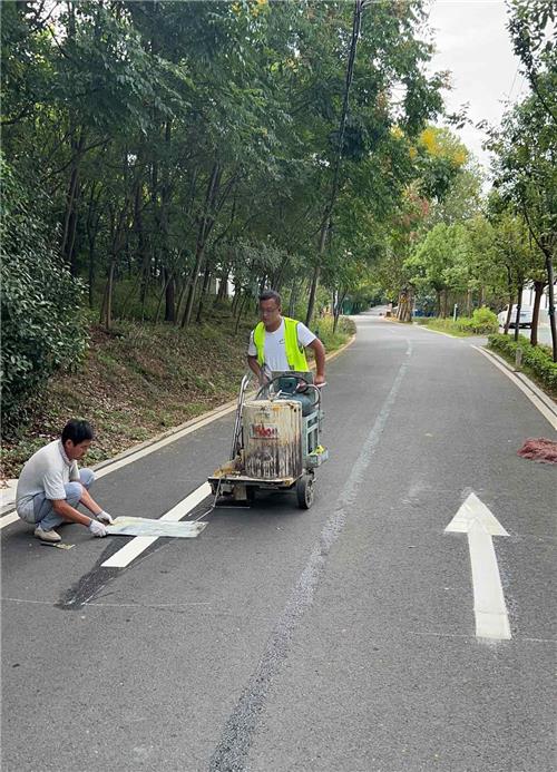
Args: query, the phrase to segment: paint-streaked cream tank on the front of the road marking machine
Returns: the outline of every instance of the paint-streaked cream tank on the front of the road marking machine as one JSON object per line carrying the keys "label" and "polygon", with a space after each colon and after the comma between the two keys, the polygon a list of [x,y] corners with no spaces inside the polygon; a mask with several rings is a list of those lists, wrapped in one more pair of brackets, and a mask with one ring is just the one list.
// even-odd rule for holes
{"label": "paint-streaked cream tank on the front of the road marking machine", "polygon": [[262,480],[300,477],[302,405],[295,400],[246,402],[243,412],[244,470]]}

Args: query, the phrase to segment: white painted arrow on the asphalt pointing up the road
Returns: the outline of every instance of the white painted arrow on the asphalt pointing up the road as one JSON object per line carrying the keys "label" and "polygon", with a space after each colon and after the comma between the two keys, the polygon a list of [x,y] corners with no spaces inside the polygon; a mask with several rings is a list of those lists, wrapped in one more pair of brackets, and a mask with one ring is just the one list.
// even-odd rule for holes
{"label": "white painted arrow on the asphalt pointing up the road", "polygon": [[477,637],[510,638],[509,617],[491,538],[508,536],[507,531],[476,494],[470,494],[444,532],[468,535]]}

